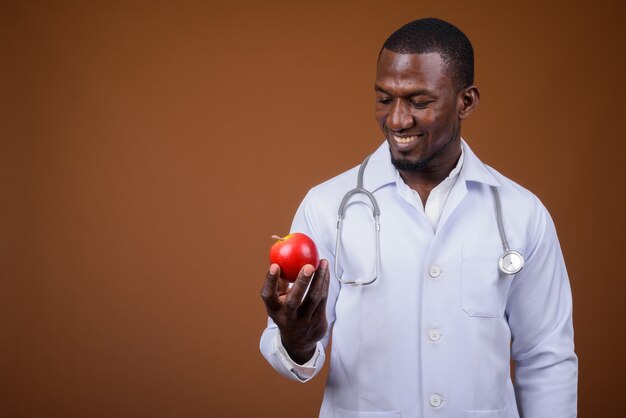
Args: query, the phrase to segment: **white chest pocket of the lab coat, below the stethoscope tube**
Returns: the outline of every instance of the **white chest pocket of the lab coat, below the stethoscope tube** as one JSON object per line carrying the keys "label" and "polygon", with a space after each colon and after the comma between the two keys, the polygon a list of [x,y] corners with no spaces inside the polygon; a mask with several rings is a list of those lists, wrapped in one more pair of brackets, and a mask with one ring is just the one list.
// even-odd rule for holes
{"label": "white chest pocket of the lab coat, below the stethoscope tube", "polygon": [[472,317],[501,318],[514,276],[498,268],[500,242],[463,242],[461,304]]}

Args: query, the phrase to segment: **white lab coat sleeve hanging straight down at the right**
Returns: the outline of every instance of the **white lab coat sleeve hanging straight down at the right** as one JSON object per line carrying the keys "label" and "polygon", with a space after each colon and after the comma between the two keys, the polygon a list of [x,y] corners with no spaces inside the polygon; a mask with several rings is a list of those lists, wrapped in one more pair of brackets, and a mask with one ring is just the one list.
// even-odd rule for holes
{"label": "white lab coat sleeve hanging straight down at the right", "polygon": [[506,308],[515,392],[523,418],[570,418],[576,416],[578,383],[571,289],[552,219],[537,206],[526,263]]}

